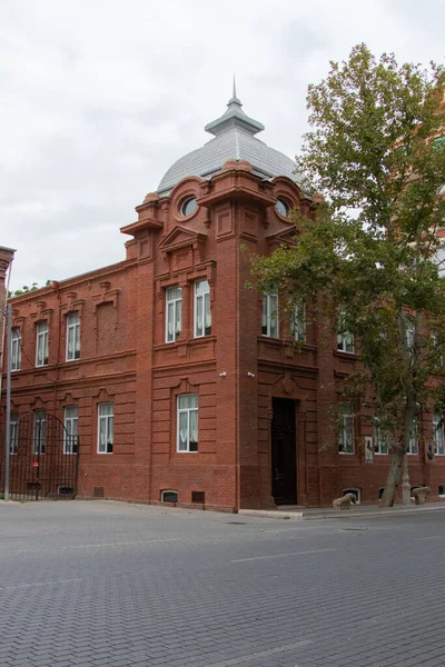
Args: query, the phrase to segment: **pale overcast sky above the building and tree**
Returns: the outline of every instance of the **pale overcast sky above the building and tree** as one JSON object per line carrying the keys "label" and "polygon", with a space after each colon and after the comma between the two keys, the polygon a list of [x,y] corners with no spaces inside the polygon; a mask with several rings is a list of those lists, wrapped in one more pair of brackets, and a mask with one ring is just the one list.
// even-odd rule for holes
{"label": "pale overcast sky above the building and tree", "polygon": [[445,0],[0,0],[0,245],[11,286],[125,258],[119,228],[211,137],[233,72],[294,157],[307,86],[365,41],[444,62]]}

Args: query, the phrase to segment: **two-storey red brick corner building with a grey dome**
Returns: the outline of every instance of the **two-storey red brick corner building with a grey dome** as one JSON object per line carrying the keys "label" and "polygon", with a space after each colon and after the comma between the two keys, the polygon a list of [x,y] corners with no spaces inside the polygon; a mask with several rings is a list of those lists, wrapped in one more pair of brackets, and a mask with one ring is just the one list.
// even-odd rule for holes
{"label": "two-storey red brick corner building with a grey dome", "polygon": [[[335,435],[328,417],[353,341],[320,344],[323,322],[291,322],[274,295],[246,288],[249,253],[289,240],[290,210],[313,206],[263,129],[234,92],[206,126],[214,138],[121,229],[123,261],[12,300],[12,422],[52,414],[78,434],[80,497],[228,510],[329,505],[346,489],[379,497],[388,455],[372,420],[346,412]],[[435,496],[443,427],[429,460],[434,416],[422,420],[411,481]]]}

